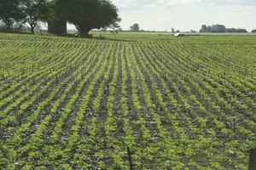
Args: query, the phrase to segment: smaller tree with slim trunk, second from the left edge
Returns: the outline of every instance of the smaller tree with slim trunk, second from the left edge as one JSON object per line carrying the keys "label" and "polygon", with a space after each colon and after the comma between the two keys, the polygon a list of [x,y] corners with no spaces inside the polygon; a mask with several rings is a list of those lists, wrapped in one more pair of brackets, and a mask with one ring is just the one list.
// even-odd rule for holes
{"label": "smaller tree with slim trunk, second from the left edge", "polygon": [[39,22],[44,21],[44,14],[47,12],[46,4],[46,0],[22,0],[22,11],[25,16],[22,22],[32,34]]}

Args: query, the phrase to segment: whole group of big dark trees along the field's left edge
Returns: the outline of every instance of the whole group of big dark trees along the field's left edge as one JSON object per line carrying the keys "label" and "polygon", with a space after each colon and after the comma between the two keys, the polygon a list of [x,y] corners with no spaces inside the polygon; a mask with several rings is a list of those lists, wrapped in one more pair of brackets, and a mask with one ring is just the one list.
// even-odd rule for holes
{"label": "whole group of big dark trees along the field's left edge", "polygon": [[6,30],[26,26],[34,33],[40,23],[61,20],[88,37],[92,29],[119,27],[120,18],[109,0],[0,0],[0,23]]}

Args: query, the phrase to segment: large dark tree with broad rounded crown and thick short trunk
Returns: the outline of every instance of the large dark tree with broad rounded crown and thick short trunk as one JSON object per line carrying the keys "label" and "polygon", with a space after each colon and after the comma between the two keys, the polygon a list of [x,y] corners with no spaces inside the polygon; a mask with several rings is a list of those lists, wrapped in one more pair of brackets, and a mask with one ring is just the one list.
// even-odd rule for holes
{"label": "large dark tree with broad rounded crown and thick short trunk", "polygon": [[119,27],[118,8],[109,0],[56,0],[61,15],[78,29],[81,37],[89,37],[92,29]]}

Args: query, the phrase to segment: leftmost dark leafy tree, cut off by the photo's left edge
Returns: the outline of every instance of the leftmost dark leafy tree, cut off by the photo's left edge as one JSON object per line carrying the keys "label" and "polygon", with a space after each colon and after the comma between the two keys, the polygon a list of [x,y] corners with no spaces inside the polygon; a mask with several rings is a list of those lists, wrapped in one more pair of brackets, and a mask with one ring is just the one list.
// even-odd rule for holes
{"label": "leftmost dark leafy tree, cut off by the photo's left edge", "polygon": [[3,20],[7,29],[10,29],[15,22],[19,22],[22,17],[20,0],[0,1],[0,19]]}

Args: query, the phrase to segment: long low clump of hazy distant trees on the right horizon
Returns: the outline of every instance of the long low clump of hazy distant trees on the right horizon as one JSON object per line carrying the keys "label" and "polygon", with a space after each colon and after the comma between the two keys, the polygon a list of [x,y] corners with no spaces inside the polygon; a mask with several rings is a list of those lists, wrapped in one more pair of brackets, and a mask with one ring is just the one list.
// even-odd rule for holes
{"label": "long low clump of hazy distant trees on the right horizon", "polygon": [[241,28],[226,28],[223,25],[212,25],[212,26],[206,26],[202,25],[200,32],[247,32],[246,29]]}

